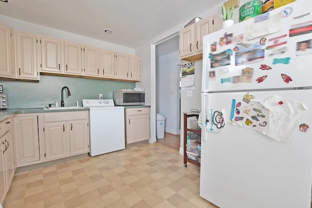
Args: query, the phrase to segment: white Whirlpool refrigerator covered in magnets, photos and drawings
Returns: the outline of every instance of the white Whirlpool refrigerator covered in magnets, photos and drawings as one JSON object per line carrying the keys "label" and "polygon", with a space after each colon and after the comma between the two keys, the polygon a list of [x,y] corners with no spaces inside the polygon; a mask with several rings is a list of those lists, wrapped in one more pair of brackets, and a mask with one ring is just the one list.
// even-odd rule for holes
{"label": "white Whirlpool refrigerator covered in magnets, photos and drawings", "polygon": [[204,37],[201,197],[220,208],[310,208],[311,39],[311,0]]}

